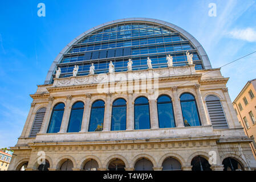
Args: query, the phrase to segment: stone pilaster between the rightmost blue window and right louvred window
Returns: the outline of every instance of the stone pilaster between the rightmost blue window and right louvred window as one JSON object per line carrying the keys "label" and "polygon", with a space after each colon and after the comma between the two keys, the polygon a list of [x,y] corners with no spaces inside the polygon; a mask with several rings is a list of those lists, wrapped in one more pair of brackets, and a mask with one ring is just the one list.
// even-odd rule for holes
{"label": "stone pilaster between the rightmost blue window and right louvred window", "polygon": [[205,112],[204,102],[202,101],[200,85],[199,84],[194,85],[194,89],[196,90],[196,94],[197,94],[197,107],[200,115],[201,125],[203,126],[210,125],[210,123],[208,123],[206,119],[206,112]]}

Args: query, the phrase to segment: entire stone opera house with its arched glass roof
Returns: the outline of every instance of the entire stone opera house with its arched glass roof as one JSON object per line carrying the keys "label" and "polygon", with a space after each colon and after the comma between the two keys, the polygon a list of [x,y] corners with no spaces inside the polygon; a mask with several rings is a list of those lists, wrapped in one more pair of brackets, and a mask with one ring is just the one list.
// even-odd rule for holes
{"label": "entire stone opera house with its arched glass roof", "polygon": [[174,24],[100,24],[64,47],[30,95],[9,169],[255,169],[228,80]]}

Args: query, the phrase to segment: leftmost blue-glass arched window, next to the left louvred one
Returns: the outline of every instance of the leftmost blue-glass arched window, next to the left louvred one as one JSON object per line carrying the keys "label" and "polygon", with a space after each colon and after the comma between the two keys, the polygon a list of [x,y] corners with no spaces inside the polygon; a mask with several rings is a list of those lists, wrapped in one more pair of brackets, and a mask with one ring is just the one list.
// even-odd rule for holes
{"label": "leftmost blue-glass arched window, next to the left louvred one", "polygon": [[56,104],[51,113],[51,119],[47,133],[58,133],[62,125],[62,118],[65,105],[63,103]]}

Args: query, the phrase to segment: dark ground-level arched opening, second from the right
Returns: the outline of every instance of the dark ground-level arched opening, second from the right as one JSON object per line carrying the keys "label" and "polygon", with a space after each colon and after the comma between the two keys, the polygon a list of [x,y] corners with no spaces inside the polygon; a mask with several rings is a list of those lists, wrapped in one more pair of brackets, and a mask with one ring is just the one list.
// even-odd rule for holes
{"label": "dark ground-level arched opening, second from the right", "polygon": [[212,171],[208,160],[198,155],[191,161],[192,171]]}

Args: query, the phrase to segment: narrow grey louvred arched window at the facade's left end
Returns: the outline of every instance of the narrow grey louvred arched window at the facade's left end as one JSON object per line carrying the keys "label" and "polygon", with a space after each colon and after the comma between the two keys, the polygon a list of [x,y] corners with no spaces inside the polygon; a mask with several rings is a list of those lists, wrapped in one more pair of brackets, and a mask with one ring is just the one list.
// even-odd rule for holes
{"label": "narrow grey louvred arched window at the facade's left end", "polygon": [[36,134],[39,133],[42,123],[43,123],[43,118],[44,118],[45,113],[46,113],[45,107],[36,111],[35,120],[34,120],[32,128],[31,128],[29,137],[36,137]]}

